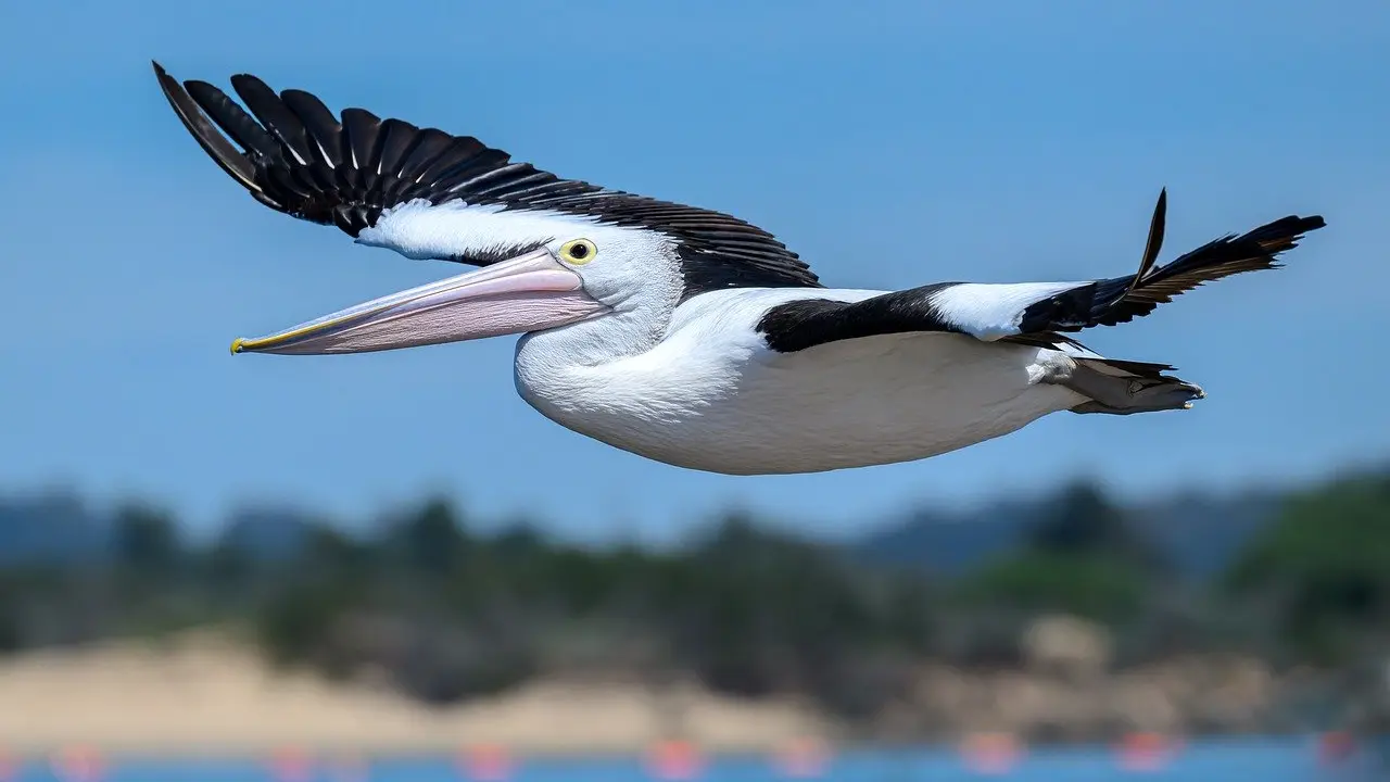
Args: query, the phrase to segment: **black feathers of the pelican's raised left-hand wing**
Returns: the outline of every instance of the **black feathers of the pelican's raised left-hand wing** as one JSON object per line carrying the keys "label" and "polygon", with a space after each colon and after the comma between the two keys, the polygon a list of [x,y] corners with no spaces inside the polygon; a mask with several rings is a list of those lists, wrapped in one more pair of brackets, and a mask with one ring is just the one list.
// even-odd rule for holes
{"label": "black feathers of the pelican's raised left-hand wing", "polygon": [[304,90],[277,93],[247,74],[231,79],[246,104],[242,109],[207,82],[179,83],[158,63],[154,72],[197,143],[252,196],[350,237],[374,227],[391,209],[420,200],[543,210],[670,235],[681,253],[688,292],[820,287],[816,274],[776,237],[720,212],[563,179],[512,161],[506,152],[473,136],[382,120],[364,109],[345,109],[335,117]]}

